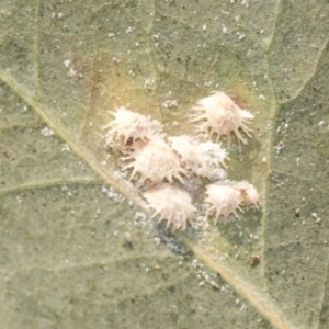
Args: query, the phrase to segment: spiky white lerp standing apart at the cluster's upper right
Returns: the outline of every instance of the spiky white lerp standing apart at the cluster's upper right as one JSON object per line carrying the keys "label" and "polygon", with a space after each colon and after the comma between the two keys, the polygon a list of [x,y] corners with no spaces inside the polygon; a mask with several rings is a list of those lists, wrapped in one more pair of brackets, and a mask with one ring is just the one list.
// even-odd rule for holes
{"label": "spiky white lerp standing apart at the cluster's upper right", "polygon": [[248,120],[252,120],[253,115],[240,109],[226,93],[215,92],[213,95],[204,98],[193,107],[198,114],[193,121],[202,121],[200,124],[201,131],[211,131],[211,136],[217,134],[217,140],[220,136],[227,136],[230,139],[230,134],[237,136],[238,141],[247,144],[239,129],[250,137],[249,129],[246,125]]}

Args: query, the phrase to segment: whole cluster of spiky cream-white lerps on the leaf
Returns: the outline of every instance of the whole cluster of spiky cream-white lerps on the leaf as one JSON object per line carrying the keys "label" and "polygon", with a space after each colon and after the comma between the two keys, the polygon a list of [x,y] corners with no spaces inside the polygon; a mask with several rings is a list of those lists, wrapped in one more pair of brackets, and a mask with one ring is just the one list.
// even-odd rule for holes
{"label": "whole cluster of spiky cream-white lerps on the leaf", "polygon": [[[246,121],[253,115],[241,110],[224,92],[202,99],[193,110],[196,112],[193,122],[198,122],[198,129],[211,136],[216,134],[217,141],[225,135],[229,143],[234,133],[239,143],[247,143],[241,132],[250,136]],[[227,219],[230,214],[238,217],[241,206],[258,207],[259,195],[252,184],[226,179],[227,151],[220,144],[198,141],[186,135],[166,138],[158,121],[124,107],[112,114],[114,120],[105,128],[109,128],[107,136],[126,154],[124,159],[129,161],[123,170],[132,170],[131,180],[138,175],[140,183],[150,183],[143,196],[155,211],[154,216],[159,215],[159,222],[168,220],[167,227],[172,224],[173,229],[185,230],[188,222],[193,220],[196,208],[189,193],[172,184],[177,181],[184,186],[184,179],[191,174],[216,181],[207,184],[205,192],[205,202],[211,205],[207,215],[214,214],[216,219],[220,216]]]}

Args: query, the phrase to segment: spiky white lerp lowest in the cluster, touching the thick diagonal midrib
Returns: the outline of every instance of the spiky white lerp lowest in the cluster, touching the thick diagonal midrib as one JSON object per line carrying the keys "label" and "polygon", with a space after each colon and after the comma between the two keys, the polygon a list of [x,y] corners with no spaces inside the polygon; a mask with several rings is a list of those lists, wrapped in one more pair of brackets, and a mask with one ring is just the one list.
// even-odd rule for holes
{"label": "spiky white lerp lowest in the cluster, touching the thick diagonal midrib", "polygon": [[162,183],[146,191],[143,196],[155,211],[152,217],[159,215],[159,222],[167,219],[167,228],[185,230],[188,222],[192,224],[196,208],[192,205],[190,195],[173,185]]}

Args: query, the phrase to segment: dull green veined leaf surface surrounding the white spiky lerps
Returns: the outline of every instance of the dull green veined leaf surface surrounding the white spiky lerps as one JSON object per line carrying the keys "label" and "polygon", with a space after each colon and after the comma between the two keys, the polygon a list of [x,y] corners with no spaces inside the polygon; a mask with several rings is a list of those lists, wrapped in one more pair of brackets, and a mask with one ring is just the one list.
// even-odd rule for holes
{"label": "dull green veined leaf surface surrounding the white spiky lerps", "polygon": [[[328,12],[327,1],[2,3],[2,327],[327,328]],[[229,177],[256,184],[261,211],[154,229],[105,148],[109,111],[192,134],[190,110],[212,90],[256,116]]]}

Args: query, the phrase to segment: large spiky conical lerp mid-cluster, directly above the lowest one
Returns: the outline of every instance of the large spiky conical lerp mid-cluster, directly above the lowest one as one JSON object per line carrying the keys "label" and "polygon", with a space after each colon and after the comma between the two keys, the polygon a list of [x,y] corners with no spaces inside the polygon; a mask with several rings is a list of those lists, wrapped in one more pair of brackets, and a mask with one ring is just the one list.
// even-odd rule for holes
{"label": "large spiky conical lerp mid-cluster, directly above the lowest one", "polygon": [[181,173],[186,173],[180,164],[179,156],[161,137],[140,143],[125,160],[133,160],[124,167],[133,168],[131,180],[138,172],[141,182],[148,179],[155,184],[167,179],[171,183],[175,178],[183,183]]}

